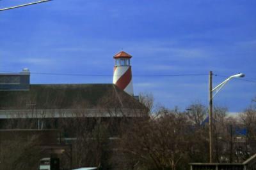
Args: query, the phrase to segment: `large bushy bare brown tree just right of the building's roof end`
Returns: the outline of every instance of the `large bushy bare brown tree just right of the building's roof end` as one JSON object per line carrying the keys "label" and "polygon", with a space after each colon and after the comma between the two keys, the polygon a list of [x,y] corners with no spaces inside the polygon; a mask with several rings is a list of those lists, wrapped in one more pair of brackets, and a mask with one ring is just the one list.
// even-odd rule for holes
{"label": "large bushy bare brown tree just right of the building's roof end", "polygon": [[125,129],[127,131],[120,141],[120,150],[126,162],[124,167],[174,170],[188,159],[191,129],[183,113],[163,108],[159,110],[158,117],[145,118]]}

